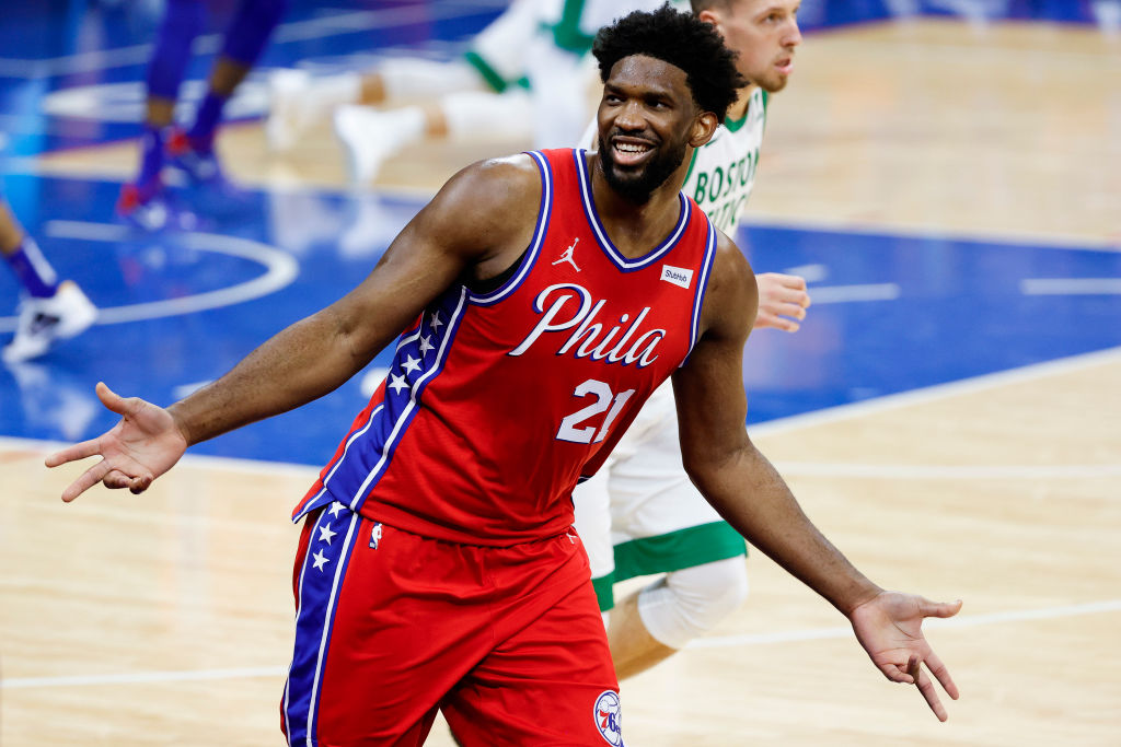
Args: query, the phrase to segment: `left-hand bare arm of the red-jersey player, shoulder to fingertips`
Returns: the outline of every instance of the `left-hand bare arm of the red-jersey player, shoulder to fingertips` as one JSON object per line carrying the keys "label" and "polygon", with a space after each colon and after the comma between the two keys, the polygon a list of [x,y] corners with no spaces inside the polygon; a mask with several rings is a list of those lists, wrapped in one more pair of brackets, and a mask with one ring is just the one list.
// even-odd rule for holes
{"label": "left-hand bare arm of the red-jersey player, shoulder to fingertips", "polygon": [[469,167],[401,231],[358,288],[278,333],[212,384],[167,410],[99,385],[102,402],[122,420],[47,458],[56,467],[102,456],[63,498],[73,501],[99,482],[139,493],[188,446],[339,387],[457,279],[482,280],[512,263],[529,242],[539,195],[528,156]]}

